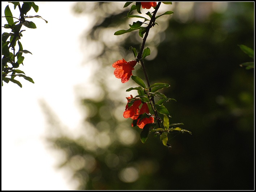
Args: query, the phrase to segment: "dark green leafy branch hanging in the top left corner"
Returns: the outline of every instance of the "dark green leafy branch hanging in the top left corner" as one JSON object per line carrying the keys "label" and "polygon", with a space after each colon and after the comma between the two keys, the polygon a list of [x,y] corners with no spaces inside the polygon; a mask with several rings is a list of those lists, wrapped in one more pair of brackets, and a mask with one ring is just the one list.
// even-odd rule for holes
{"label": "dark green leafy branch hanging in the top left corner", "polygon": [[[5,7],[4,10],[4,17],[7,20],[7,24],[4,24],[5,29],[10,29],[11,32],[4,32],[2,34],[2,86],[3,81],[8,83],[9,81],[17,84],[18,86],[22,87],[22,84],[20,81],[14,79],[16,76],[23,77],[25,80],[34,83],[33,79],[31,77],[28,77],[25,75],[25,72],[18,70],[17,68],[20,66],[20,64],[24,65],[23,61],[25,59],[24,56],[22,56],[23,53],[30,53],[30,51],[25,50],[22,47],[21,44],[21,37],[22,32],[26,30],[21,30],[22,26],[25,26],[27,28],[35,29],[37,26],[32,21],[27,21],[27,18],[41,18],[39,15],[35,16],[27,16],[27,12],[31,10],[31,8],[34,9],[35,12],[38,12],[38,5],[36,5],[34,2],[23,2],[21,5],[20,2],[9,2],[14,5],[14,9],[18,7],[20,10],[20,17],[16,18],[13,17],[13,14],[9,8],[9,5]],[[16,19],[17,21],[14,21]],[[43,19],[46,23],[45,19]],[[16,52],[16,50],[18,51]],[[11,73],[11,74],[10,74]]]}

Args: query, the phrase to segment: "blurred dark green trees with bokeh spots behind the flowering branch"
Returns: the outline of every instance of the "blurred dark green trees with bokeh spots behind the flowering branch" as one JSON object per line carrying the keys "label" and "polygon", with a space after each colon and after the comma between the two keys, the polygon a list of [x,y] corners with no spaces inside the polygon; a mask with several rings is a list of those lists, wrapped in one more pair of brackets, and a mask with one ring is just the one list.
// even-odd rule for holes
{"label": "blurred dark green trees with bokeh spots behind the flowering branch", "polygon": [[131,23],[123,3],[73,8],[90,15],[85,64],[94,73],[76,88],[85,111],[79,134],[66,133],[42,103],[57,131],[48,141],[65,153],[60,166],[79,190],[253,190],[254,71],[239,66],[248,57],[238,45],[254,47],[254,2],[175,2],[174,15],[150,30],[149,79],[171,85],[164,93],[177,100],[167,105],[172,119],[193,133],[173,135],[171,150],[153,136],[142,144],[141,130],[122,116],[132,82],[116,84],[112,63],[132,59],[129,47],[142,42],[137,32],[114,36]]}

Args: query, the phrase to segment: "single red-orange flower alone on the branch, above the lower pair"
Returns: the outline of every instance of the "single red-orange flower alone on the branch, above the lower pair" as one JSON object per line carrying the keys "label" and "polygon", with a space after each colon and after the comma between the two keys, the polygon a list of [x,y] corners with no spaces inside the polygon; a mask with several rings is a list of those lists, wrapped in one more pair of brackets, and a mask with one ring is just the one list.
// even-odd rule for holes
{"label": "single red-orange flower alone on the branch, above the lower pair", "polygon": [[125,61],[123,60],[118,60],[117,62],[112,64],[112,67],[116,68],[114,71],[114,75],[116,78],[121,79],[122,83],[127,82],[131,75],[132,75],[132,70],[134,70],[134,66],[137,64],[136,60],[132,61]]}

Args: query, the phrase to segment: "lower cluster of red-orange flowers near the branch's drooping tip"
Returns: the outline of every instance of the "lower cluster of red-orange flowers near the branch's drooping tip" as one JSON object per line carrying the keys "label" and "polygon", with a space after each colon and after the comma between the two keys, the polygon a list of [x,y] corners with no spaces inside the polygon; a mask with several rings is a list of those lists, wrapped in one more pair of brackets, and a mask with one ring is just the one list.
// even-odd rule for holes
{"label": "lower cluster of red-orange flowers near the branch's drooping tip", "polygon": [[[132,95],[131,97],[127,97],[126,99],[131,99],[133,98]],[[129,103],[129,101],[127,101]],[[153,117],[149,117],[149,118],[143,118],[143,119],[140,119],[138,118],[139,115],[142,115],[143,113],[149,113],[149,108],[148,108],[148,104],[147,103],[143,103],[141,108],[140,108],[140,105],[141,105],[141,100],[135,100],[132,104],[132,106],[128,107],[128,103],[125,107],[125,111],[124,111],[124,118],[131,118],[133,120],[136,120],[137,119],[137,125],[140,129],[143,129],[144,126],[146,124],[149,124],[149,123],[153,123],[154,122],[154,118]],[[133,124],[132,124],[133,126]]]}

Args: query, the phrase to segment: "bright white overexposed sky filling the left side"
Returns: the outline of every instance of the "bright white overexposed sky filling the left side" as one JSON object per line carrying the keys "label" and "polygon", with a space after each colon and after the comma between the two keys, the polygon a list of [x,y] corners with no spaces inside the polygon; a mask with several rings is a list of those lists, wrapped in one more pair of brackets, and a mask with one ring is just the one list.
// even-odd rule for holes
{"label": "bright white overexposed sky filling the left side", "polygon": [[[82,67],[83,54],[79,38],[86,28],[86,17],[71,13],[75,2],[35,2],[28,15],[37,29],[24,27],[21,43],[31,54],[25,54],[24,66],[19,67],[35,84],[18,77],[22,88],[9,82],[2,87],[2,191],[3,190],[72,190],[76,183],[71,175],[56,167],[57,153],[46,147],[46,122],[38,100],[44,99],[60,120],[69,128],[81,121],[73,86],[86,82],[88,72]],[[18,18],[13,4],[2,1]],[[15,20],[14,20],[15,21]],[[2,25],[7,23],[2,18]],[[81,24],[82,23],[82,24]],[[72,27],[71,27],[72,26]],[[6,29],[2,28],[3,32]],[[73,69],[71,71],[71,68]],[[68,110],[65,110],[68,109]],[[68,121],[72,118],[72,121]]]}

